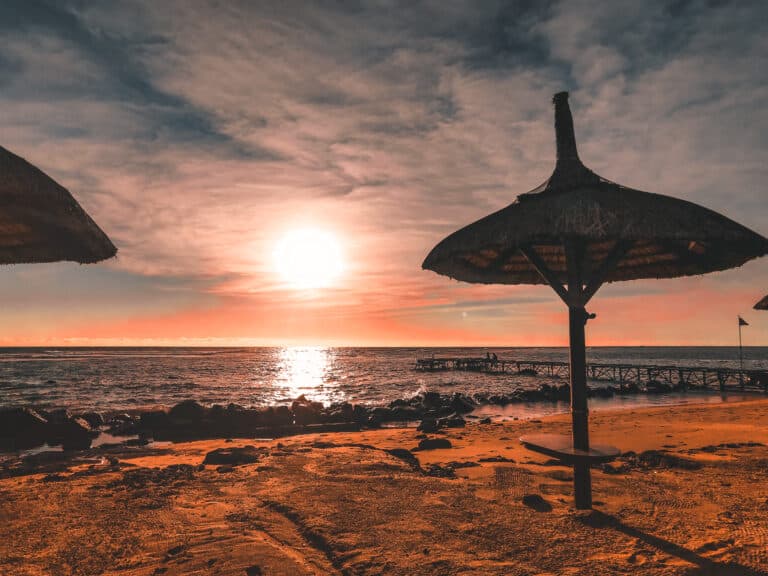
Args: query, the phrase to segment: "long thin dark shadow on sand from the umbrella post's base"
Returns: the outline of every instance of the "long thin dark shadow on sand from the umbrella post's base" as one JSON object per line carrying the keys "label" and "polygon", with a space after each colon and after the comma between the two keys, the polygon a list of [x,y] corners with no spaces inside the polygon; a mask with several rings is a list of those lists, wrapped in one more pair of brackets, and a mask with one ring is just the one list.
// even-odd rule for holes
{"label": "long thin dark shadow on sand from the umbrella post's base", "polygon": [[593,510],[589,515],[583,516],[581,521],[593,528],[612,528],[622,534],[642,540],[646,544],[671,556],[677,556],[686,562],[695,564],[696,568],[691,568],[686,572],[686,576],[733,576],[734,574],[739,574],[740,576],[768,576],[768,572],[765,570],[752,568],[737,562],[716,562],[710,560],[669,540],[664,540],[632,526],[627,526],[618,518],[598,510]]}

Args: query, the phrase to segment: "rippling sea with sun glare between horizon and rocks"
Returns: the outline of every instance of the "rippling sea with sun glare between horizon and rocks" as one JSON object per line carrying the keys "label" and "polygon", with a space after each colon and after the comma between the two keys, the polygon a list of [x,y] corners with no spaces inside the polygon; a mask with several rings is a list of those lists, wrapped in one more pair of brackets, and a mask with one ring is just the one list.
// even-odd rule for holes
{"label": "rippling sea with sun glare between horizon and rocks", "polygon": [[[0,348],[0,407],[131,410],[202,404],[264,406],[307,398],[383,405],[419,392],[508,393],[562,383],[541,376],[417,372],[419,357],[482,356],[500,360],[567,361],[567,348]],[[739,366],[738,347],[594,347],[587,360],[665,366]],[[768,347],[745,347],[744,367],[768,369]],[[605,385],[600,383],[596,385]],[[592,407],[719,401],[688,393],[593,399]],[[516,406],[527,414],[567,405]]]}

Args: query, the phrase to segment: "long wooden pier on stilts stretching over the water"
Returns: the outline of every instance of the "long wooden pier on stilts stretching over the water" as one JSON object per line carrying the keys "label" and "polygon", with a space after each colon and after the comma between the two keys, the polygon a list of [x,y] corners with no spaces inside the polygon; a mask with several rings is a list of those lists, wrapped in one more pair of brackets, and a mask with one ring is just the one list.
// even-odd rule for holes
{"label": "long wooden pier on stilts stretching over the water", "polygon": [[[441,372],[459,370],[489,374],[549,376],[570,379],[568,362],[477,358],[419,358],[416,370]],[[635,384],[648,387],[666,384],[676,389],[711,388],[768,392],[768,371],[712,368],[706,366],[656,366],[638,364],[587,364],[587,378],[593,381]]]}

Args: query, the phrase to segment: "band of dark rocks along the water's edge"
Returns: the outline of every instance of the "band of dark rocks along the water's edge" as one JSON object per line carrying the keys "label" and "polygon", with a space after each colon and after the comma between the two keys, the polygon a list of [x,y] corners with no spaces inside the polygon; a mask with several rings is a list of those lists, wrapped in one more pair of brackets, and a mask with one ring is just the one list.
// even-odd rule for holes
{"label": "band of dark rocks along the water's edge", "polygon": [[[652,382],[644,388],[636,385],[592,388],[589,395],[610,398],[682,390]],[[167,410],[112,413],[73,414],[67,409],[7,408],[0,410],[0,451],[29,450],[46,444],[61,446],[65,451],[85,450],[102,432],[128,437],[136,444],[152,440],[277,438],[308,432],[375,429],[408,422],[418,422],[419,430],[434,432],[440,428],[464,427],[467,418],[477,418],[472,412],[480,406],[558,402],[569,398],[567,384],[543,384],[536,389],[518,388],[503,395],[425,392],[394,400],[387,406],[349,402],[324,406],[302,395],[290,405],[260,408],[238,404],[203,406],[195,400],[185,400]]]}

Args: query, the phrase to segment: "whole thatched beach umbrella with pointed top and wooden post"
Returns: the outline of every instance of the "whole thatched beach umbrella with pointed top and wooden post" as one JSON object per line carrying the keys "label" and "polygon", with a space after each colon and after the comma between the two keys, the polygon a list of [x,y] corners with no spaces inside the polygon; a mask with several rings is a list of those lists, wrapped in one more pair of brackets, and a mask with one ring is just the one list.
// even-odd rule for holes
{"label": "whole thatched beach umbrella with pointed top and wooden post", "polygon": [[[589,455],[585,305],[604,282],[725,270],[768,253],[768,240],[691,202],[598,176],[579,160],[568,93],[556,94],[557,164],[538,188],[454,232],[422,267],[482,284],[549,284],[570,324],[571,452]],[[591,506],[588,458],[574,460],[576,506]]]}

